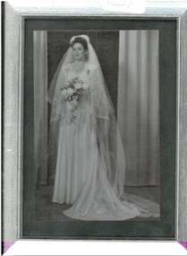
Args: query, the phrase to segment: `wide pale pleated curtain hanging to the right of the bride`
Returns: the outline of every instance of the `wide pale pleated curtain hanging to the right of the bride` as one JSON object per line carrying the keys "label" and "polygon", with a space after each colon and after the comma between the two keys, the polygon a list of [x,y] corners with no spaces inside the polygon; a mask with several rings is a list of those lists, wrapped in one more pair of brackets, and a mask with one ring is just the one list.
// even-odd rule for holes
{"label": "wide pale pleated curtain hanging to the right of the bride", "polygon": [[159,184],[158,31],[120,31],[117,119],[126,185]]}

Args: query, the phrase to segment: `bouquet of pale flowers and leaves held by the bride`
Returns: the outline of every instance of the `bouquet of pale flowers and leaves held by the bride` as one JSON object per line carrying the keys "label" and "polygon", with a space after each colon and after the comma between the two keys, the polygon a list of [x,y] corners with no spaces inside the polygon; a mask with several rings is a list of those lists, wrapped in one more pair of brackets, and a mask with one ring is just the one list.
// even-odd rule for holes
{"label": "bouquet of pale flowers and leaves held by the bride", "polygon": [[81,98],[87,93],[88,89],[88,84],[82,82],[79,77],[75,77],[71,81],[68,81],[62,89],[64,101],[69,102],[72,106],[72,110],[75,110],[78,102],[81,101]]}

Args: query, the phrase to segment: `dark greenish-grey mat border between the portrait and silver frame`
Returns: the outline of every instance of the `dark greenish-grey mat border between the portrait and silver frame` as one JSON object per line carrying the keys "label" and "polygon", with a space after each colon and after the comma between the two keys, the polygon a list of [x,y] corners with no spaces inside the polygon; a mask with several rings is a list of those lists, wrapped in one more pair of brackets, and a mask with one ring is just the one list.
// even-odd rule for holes
{"label": "dark greenish-grey mat border between the portrait and silver frame", "polygon": [[[174,239],[176,22],[125,19],[27,19],[25,22],[23,237]],[[160,221],[35,221],[33,31],[159,31]]]}

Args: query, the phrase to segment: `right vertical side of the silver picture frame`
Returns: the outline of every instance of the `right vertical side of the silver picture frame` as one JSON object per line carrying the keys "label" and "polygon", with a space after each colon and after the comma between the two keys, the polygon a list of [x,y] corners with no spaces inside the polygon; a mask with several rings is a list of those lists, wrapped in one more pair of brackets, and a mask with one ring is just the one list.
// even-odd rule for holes
{"label": "right vertical side of the silver picture frame", "polygon": [[187,241],[187,11],[180,19],[180,59],[178,95],[178,177],[177,177],[177,240]]}

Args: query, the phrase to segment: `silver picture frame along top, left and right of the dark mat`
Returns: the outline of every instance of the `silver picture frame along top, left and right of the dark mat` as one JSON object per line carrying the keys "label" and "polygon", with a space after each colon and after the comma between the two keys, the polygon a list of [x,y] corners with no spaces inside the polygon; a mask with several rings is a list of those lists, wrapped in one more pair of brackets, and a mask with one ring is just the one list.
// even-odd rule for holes
{"label": "silver picture frame along top, left and right of the dark mat", "polygon": [[[75,17],[126,17],[175,21],[176,29],[176,137],[174,241],[187,241],[187,5],[148,2],[144,13],[113,13],[101,7],[26,7],[3,3],[4,10],[4,119],[3,119],[3,241],[22,238],[23,88],[25,21]],[[100,9],[99,9],[100,8]]]}

